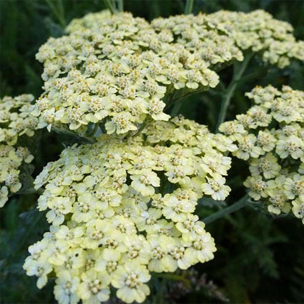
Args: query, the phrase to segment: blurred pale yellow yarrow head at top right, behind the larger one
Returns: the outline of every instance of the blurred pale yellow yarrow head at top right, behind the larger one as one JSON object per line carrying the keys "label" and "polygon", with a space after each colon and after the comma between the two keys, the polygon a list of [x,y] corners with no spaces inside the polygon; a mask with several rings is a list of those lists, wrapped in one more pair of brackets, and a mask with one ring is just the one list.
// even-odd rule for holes
{"label": "blurred pale yellow yarrow head at top right, behind the larger one", "polygon": [[304,60],[304,43],[296,42],[292,26],[263,10],[160,17],[151,24],[172,31],[179,43],[199,52],[215,70],[231,60],[242,61],[246,50],[261,52],[265,62],[280,68],[289,65],[290,58]]}

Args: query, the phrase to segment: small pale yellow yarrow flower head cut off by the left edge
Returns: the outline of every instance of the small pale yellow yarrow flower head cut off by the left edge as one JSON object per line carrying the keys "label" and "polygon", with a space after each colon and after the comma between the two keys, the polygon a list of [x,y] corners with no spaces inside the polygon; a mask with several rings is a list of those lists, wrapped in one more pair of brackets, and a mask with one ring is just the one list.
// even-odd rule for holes
{"label": "small pale yellow yarrow flower head cut off by the left edge", "polygon": [[34,158],[26,147],[17,143],[23,134],[33,136],[38,125],[38,119],[32,116],[33,100],[30,94],[0,99],[0,207],[7,202],[9,190],[17,192],[21,188],[18,168]]}

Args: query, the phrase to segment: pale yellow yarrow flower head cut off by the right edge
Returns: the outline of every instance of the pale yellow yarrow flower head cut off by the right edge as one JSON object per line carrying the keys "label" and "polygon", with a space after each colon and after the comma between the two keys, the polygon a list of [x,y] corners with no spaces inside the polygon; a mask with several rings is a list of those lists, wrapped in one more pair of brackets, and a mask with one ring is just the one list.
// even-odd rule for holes
{"label": "pale yellow yarrow flower head cut off by the right edge", "polygon": [[304,92],[268,85],[246,96],[254,105],[219,130],[237,144],[232,155],[249,162],[249,195],[271,213],[292,210],[304,224]]}

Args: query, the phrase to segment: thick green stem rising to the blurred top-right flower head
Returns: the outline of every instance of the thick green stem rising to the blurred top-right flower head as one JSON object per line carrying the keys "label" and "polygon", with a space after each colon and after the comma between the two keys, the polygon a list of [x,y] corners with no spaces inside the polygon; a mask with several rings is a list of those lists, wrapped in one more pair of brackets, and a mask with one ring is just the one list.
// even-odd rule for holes
{"label": "thick green stem rising to the blurred top-right flower head", "polygon": [[228,85],[226,90],[223,92],[223,99],[219,110],[219,117],[216,123],[216,129],[215,129],[216,133],[219,132],[219,126],[225,121],[230,100],[233,97],[234,91],[236,90],[237,85],[241,80],[251,57],[252,54],[246,55],[239,68],[236,67],[236,63],[234,64],[232,80],[230,81],[230,84]]}

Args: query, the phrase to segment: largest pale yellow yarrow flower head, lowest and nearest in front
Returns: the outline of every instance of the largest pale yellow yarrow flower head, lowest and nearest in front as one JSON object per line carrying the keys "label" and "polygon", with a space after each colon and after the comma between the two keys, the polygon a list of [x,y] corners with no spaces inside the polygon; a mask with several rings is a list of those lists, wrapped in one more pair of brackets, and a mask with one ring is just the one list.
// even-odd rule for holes
{"label": "largest pale yellow yarrow flower head, lowest and nearest in front", "polygon": [[194,214],[203,195],[223,200],[232,140],[183,117],[136,136],[101,135],[66,148],[35,180],[39,210],[52,225],[29,247],[24,269],[59,303],[143,302],[150,272],[187,269],[213,258],[214,239]]}

